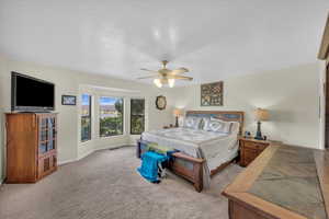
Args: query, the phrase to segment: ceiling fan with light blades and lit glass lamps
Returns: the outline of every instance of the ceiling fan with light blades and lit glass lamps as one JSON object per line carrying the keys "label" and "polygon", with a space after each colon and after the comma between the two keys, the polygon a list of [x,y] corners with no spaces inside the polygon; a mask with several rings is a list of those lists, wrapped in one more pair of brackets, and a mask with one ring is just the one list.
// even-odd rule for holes
{"label": "ceiling fan with light blades and lit glass lamps", "polygon": [[189,72],[189,69],[178,68],[178,69],[174,69],[174,70],[170,70],[166,67],[167,64],[168,64],[168,61],[163,60],[162,61],[162,68],[159,69],[158,71],[148,70],[148,69],[144,69],[144,68],[140,69],[143,71],[149,71],[149,72],[152,72],[155,74],[140,77],[140,78],[137,78],[137,79],[151,79],[151,78],[155,78],[154,83],[158,88],[162,88],[163,84],[168,84],[170,88],[172,88],[174,85],[174,80],[188,80],[188,81],[193,80],[193,78],[191,78],[191,77],[182,76],[183,73]]}

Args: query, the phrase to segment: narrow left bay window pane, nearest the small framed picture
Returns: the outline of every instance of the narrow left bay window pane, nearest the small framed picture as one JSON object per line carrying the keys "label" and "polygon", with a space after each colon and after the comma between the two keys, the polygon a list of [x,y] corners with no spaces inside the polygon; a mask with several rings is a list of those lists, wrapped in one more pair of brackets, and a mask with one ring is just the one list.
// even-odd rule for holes
{"label": "narrow left bay window pane, nearest the small framed picture", "polygon": [[91,95],[81,96],[81,141],[91,139]]}

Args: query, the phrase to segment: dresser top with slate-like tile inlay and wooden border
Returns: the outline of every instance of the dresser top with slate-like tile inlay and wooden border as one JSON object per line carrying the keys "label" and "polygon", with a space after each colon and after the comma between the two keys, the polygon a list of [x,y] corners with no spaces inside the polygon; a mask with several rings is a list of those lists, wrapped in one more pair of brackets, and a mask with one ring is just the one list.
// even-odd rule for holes
{"label": "dresser top with slate-like tile inlay and wooden border", "polygon": [[327,219],[329,152],[268,147],[223,195],[274,218]]}

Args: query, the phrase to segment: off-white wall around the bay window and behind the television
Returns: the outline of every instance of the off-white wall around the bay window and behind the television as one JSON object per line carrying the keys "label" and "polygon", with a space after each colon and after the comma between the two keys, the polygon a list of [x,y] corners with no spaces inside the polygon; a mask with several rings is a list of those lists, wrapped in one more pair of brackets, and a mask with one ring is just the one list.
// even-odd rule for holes
{"label": "off-white wall around the bay window and behind the television", "polygon": [[[79,104],[77,106],[61,105],[61,95],[77,95],[81,93],[80,88],[83,84],[104,88],[120,88],[139,91],[138,95],[147,100],[147,127],[161,128],[169,120],[173,120],[171,110],[158,111],[155,106],[156,96],[166,95],[166,89],[159,90],[149,84],[141,84],[132,81],[102,77],[97,74],[88,74],[84,72],[76,72],[61,68],[52,68],[34,64],[13,61],[0,56],[0,88],[1,88],[1,117],[2,124],[0,135],[0,176],[4,174],[4,129],[3,129],[3,112],[10,112],[11,106],[11,71],[30,74],[39,79],[54,82],[56,85],[56,112],[58,113],[58,162],[64,163],[83,157],[94,149],[109,148],[131,142],[131,136],[114,137],[106,139],[98,139],[90,145],[80,143]],[[111,93],[111,92],[110,92]],[[79,99],[78,99],[79,100]],[[86,147],[87,146],[87,147]],[[89,146],[89,147],[88,147]],[[2,178],[2,177],[0,177]]]}

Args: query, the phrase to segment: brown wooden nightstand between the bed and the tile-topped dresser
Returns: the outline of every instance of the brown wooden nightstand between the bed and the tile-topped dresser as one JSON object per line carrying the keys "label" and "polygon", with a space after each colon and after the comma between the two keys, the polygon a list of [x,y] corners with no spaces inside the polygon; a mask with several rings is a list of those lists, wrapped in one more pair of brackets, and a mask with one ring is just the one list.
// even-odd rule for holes
{"label": "brown wooden nightstand between the bed and the tile-topped dresser", "polygon": [[251,163],[268,146],[269,140],[257,140],[253,138],[240,138],[240,165],[247,166]]}

